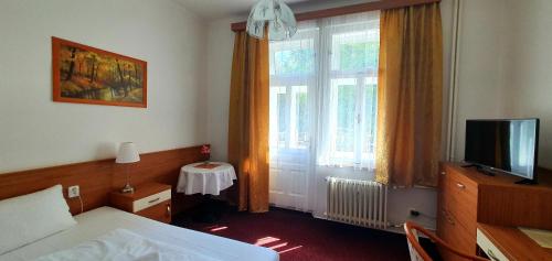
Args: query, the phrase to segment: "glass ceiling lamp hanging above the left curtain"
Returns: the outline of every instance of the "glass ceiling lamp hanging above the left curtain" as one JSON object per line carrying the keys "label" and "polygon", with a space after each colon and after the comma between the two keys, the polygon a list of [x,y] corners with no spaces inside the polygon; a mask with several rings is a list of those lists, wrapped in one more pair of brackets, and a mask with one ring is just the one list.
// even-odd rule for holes
{"label": "glass ceiling lamp hanging above the left curtain", "polygon": [[297,32],[294,12],[282,0],[259,0],[247,19],[247,33],[253,37],[264,39],[267,23],[270,41],[287,40]]}

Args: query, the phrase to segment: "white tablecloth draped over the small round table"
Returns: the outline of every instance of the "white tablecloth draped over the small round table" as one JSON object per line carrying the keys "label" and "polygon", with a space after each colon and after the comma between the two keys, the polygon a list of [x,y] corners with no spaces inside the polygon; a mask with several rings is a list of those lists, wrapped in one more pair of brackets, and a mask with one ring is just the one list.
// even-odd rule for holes
{"label": "white tablecloth draped over the small round table", "polygon": [[224,162],[211,162],[211,164],[219,164],[214,168],[195,167],[197,165],[204,164],[203,162],[192,163],[182,166],[180,176],[178,178],[177,192],[192,195],[201,193],[203,195],[220,195],[221,191],[231,187],[234,180],[237,180],[234,167]]}

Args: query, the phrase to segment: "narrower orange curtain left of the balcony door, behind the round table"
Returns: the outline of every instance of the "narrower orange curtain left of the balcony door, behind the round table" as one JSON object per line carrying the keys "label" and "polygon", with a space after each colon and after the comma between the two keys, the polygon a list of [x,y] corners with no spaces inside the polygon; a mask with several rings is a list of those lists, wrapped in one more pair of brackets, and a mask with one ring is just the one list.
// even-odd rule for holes
{"label": "narrower orange curtain left of the balcony door, behind the round table", "polygon": [[268,211],[268,41],[236,32],[230,90],[229,161],[237,172],[237,206]]}

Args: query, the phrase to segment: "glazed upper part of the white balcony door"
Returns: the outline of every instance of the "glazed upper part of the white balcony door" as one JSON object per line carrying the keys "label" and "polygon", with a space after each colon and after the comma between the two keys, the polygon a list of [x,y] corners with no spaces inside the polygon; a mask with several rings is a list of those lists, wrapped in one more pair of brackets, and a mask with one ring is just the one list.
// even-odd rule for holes
{"label": "glazed upper part of the white balcony door", "polygon": [[310,146],[317,35],[317,28],[308,28],[291,41],[270,43],[270,149],[279,152]]}

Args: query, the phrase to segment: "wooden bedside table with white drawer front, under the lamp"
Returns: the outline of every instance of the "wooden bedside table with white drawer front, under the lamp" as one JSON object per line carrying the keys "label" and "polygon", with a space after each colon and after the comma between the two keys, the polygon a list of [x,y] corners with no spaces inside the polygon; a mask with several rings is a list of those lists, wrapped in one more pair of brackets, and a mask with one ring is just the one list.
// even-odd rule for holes
{"label": "wooden bedside table with white drawer front, under the lamp", "polygon": [[112,192],[113,207],[160,222],[171,222],[171,186],[147,183],[135,187],[134,193]]}

